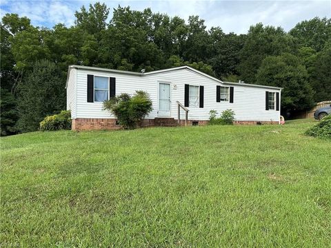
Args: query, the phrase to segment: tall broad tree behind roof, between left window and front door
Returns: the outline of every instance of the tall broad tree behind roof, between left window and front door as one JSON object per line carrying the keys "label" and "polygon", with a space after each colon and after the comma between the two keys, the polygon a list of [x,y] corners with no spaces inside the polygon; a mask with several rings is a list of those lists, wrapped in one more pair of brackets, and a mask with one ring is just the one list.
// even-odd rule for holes
{"label": "tall broad tree behind roof, between left window and front door", "polygon": [[117,8],[108,30],[103,32],[99,49],[100,63],[114,69],[123,69],[123,63],[134,71],[160,69],[163,54],[150,40],[150,29],[142,25],[143,15],[130,8]]}

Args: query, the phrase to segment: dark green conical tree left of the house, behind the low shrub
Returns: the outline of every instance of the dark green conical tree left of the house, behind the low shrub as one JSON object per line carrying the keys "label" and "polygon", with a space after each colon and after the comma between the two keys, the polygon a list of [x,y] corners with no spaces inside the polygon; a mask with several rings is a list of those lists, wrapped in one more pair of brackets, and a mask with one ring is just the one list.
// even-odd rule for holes
{"label": "dark green conical tree left of the house, behind the low shrub", "polygon": [[21,132],[38,130],[45,116],[56,114],[66,107],[66,79],[54,63],[37,61],[33,70],[19,85],[17,127]]}

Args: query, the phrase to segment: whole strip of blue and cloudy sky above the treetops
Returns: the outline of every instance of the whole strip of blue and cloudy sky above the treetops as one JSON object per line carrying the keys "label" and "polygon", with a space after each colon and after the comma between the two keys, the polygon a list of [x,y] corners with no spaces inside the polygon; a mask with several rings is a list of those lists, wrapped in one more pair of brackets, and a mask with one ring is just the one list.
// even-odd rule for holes
{"label": "whole strip of blue and cloudy sky above the treetops", "polygon": [[[190,15],[199,15],[207,28],[219,26],[225,33],[245,34],[250,25],[281,26],[285,31],[297,23],[314,17],[331,18],[331,0],[328,1],[102,1],[112,9],[130,6],[132,10],[151,8],[153,12],[179,16],[186,21]],[[26,16],[33,25],[52,28],[57,23],[74,25],[74,12],[95,1],[16,1],[0,0],[0,16],[16,13]]]}

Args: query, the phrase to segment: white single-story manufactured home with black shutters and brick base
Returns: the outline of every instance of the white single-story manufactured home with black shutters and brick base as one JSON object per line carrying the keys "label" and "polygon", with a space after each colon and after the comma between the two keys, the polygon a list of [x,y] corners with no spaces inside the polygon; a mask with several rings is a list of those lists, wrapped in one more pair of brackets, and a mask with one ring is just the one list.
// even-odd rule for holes
{"label": "white single-story manufactured home with black shutters and brick base", "polygon": [[103,101],[136,90],[148,92],[152,99],[145,126],[204,125],[210,110],[219,114],[234,110],[237,124],[276,124],[280,118],[280,87],[223,82],[187,65],[154,72],[70,65],[66,89],[72,130],[120,128],[116,118],[103,110]]}

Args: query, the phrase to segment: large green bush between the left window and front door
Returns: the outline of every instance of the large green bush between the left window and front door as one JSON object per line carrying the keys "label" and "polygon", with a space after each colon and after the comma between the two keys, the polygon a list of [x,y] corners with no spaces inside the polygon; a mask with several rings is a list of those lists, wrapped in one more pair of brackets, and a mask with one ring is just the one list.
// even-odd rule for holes
{"label": "large green bush between the left window and front door", "polygon": [[152,100],[147,92],[137,90],[133,96],[123,93],[103,102],[103,109],[117,117],[124,129],[141,125],[143,118],[152,111]]}

